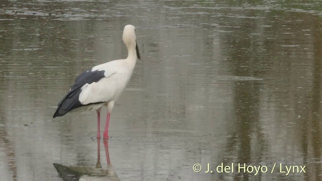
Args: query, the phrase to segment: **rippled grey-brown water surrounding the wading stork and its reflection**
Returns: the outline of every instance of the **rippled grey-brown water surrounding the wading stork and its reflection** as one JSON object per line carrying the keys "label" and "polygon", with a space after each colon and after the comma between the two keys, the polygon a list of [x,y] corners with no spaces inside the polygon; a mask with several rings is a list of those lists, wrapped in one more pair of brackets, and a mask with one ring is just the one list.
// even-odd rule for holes
{"label": "rippled grey-brown water surrounding the wading stork and its reflection", "polygon": [[[108,154],[99,148],[103,169],[120,180],[321,180],[321,8],[2,1],[1,180],[62,180],[53,163],[95,167],[96,114],[52,115],[79,73],[126,57],[126,24],[141,60],[112,112]],[[218,173],[221,163],[234,172]],[[238,172],[238,163],[268,171]],[[280,164],[305,173],[286,176]]]}

